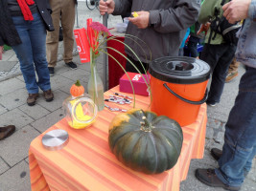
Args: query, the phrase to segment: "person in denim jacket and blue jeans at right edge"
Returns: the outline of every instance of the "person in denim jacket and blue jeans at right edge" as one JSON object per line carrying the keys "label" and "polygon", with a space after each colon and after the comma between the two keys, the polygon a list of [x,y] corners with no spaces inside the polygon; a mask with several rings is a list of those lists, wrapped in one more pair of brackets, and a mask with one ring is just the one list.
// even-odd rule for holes
{"label": "person in denim jacket and blue jeans at right edge", "polygon": [[246,71],[225,125],[222,150],[211,150],[219,168],[197,169],[196,177],[212,187],[240,190],[256,155],[256,0],[232,0],[222,9],[229,23],[245,19],[236,58]]}

